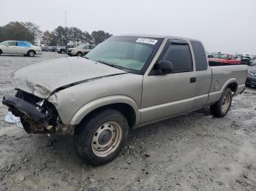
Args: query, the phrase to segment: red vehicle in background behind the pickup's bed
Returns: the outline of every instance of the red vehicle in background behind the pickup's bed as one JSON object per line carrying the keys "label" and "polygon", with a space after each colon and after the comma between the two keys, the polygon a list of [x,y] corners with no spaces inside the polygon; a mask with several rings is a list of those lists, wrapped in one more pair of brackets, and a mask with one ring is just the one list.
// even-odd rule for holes
{"label": "red vehicle in background behind the pickup's bed", "polygon": [[234,58],[234,55],[230,54],[216,54],[214,58],[209,58],[208,62],[210,66],[228,65],[228,64],[240,64],[241,61]]}

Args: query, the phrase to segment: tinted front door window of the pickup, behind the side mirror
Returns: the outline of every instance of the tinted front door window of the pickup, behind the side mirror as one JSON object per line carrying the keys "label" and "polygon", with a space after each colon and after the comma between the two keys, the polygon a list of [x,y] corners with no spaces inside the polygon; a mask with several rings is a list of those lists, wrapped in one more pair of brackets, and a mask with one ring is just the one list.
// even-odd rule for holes
{"label": "tinted front door window of the pickup, behind the side mirror", "polygon": [[170,42],[160,60],[173,63],[173,73],[193,70],[192,56],[187,42]]}

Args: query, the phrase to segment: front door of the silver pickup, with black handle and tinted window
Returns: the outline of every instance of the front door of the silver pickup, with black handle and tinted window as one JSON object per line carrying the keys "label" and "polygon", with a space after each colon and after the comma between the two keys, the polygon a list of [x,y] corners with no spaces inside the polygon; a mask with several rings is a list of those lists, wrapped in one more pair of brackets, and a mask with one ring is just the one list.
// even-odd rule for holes
{"label": "front door of the silver pickup, with black handle and tinted window", "polygon": [[170,74],[156,74],[154,67],[143,78],[141,124],[188,112],[195,96],[195,66],[187,41],[168,40],[159,61],[173,63]]}

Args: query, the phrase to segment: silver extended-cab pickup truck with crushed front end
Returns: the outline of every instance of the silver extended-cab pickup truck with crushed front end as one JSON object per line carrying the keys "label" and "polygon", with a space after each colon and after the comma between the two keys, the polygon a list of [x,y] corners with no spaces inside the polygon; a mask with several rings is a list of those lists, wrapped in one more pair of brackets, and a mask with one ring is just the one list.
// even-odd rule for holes
{"label": "silver extended-cab pickup truck with crushed front end", "polygon": [[224,117],[247,66],[209,67],[203,44],[173,36],[112,36],[86,57],[44,61],[12,74],[3,104],[27,133],[73,130],[86,163],[113,160],[129,130],[210,106]]}

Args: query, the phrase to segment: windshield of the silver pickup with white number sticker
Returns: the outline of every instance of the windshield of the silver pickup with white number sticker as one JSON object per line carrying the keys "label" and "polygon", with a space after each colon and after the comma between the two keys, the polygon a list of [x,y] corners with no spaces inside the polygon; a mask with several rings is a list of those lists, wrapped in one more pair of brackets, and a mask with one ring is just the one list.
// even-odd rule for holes
{"label": "windshield of the silver pickup with white number sticker", "polygon": [[86,58],[119,69],[140,71],[161,42],[162,39],[114,36],[91,50]]}

